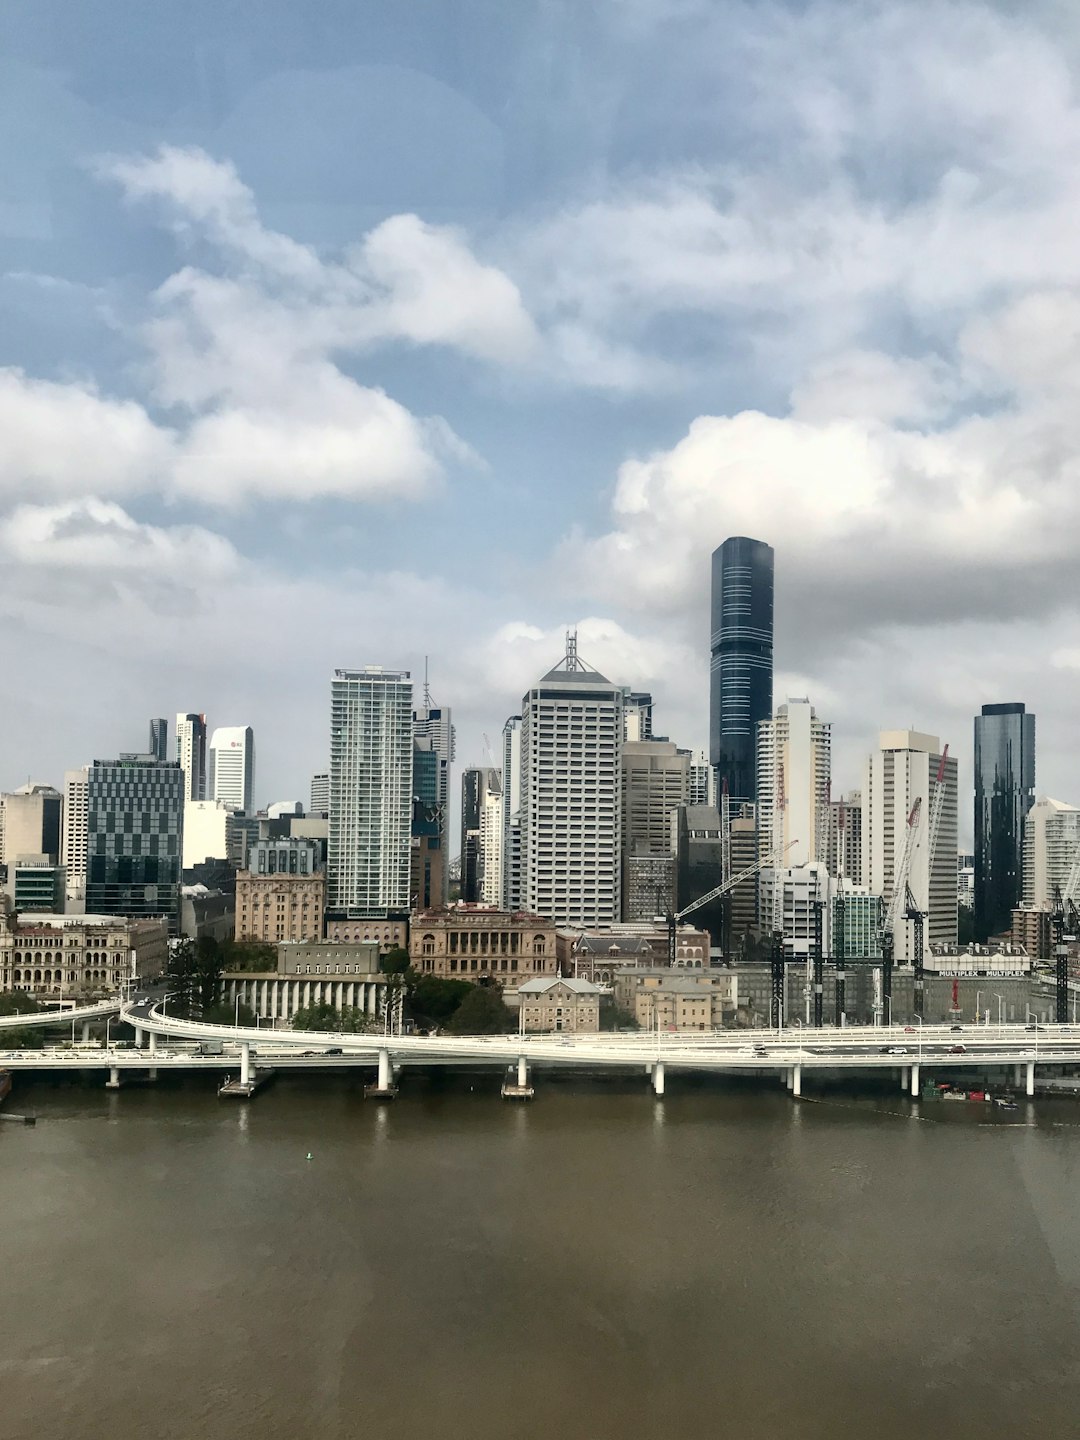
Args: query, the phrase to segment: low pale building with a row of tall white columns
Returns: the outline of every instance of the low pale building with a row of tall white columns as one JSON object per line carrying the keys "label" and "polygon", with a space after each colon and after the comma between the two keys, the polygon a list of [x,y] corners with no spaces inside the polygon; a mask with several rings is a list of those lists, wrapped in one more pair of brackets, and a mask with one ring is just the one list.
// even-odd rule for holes
{"label": "low pale building with a row of tall white columns", "polygon": [[298,1009],[330,1005],[361,1009],[377,1024],[387,981],[379,973],[379,946],[289,943],[278,946],[274,971],[230,971],[222,976],[228,1005],[248,1005],[261,1024],[287,1030]]}

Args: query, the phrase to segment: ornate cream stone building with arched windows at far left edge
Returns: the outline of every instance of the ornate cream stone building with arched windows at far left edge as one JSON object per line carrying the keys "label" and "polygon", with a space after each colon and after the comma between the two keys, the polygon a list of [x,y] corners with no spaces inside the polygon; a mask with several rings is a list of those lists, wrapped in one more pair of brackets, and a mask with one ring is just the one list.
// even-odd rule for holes
{"label": "ornate cream stone building with arched windows at far left edge", "polygon": [[160,919],[0,913],[1,991],[63,999],[118,995],[160,975],[167,959]]}

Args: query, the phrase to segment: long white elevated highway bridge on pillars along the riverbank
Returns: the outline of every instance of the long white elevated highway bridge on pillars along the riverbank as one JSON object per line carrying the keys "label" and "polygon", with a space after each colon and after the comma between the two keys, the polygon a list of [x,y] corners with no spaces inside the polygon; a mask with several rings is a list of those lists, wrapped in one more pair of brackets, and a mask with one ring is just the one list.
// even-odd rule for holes
{"label": "long white elevated highway bridge on pillars along the riverbank", "polygon": [[[167,1007],[166,1007],[167,1008]],[[1014,1084],[1034,1094],[1035,1068],[1080,1067],[1080,1027],[949,1025],[847,1027],[841,1030],[746,1030],[632,1034],[392,1035],[278,1031],[212,1025],[170,1017],[153,1001],[124,1004],[135,1028],[135,1048],[122,1045],[0,1051],[9,1070],[109,1071],[118,1086],[125,1071],[238,1068],[253,1089],[261,1068],[377,1071],[376,1096],[393,1094],[395,1073],[406,1066],[485,1067],[516,1071],[517,1089],[537,1068],[622,1070],[647,1074],[664,1094],[670,1071],[773,1074],[793,1096],[805,1074],[900,1071],[904,1090],[919,1094],[923,1070],[1011,1067]],[[115,1011],[112,1011],[115,1012]],[[69,1015],[65,1015],[66,1021]],[[53,1018],[55,1022],[55,1018]],[[213,1047],[207,1050],[207,1047]]]}

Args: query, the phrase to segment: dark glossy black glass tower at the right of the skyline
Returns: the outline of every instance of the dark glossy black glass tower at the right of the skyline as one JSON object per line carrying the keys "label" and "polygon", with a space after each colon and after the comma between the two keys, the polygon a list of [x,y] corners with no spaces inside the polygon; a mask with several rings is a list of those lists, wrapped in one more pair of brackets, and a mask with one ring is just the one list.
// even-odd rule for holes
{"label": "dark glossy black glass tower at the right of the skyline", "polygon": [[1008,932],[1024,890],[1024,816],[1035,802],[1035,717],[1021,704],[975,717],[975,939]]}

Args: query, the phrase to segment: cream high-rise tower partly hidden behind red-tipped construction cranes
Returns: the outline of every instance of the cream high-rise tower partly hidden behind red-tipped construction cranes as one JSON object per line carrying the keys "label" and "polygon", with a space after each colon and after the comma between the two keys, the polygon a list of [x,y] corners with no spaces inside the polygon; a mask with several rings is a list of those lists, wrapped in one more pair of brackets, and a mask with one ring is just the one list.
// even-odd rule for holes
{"label": "cream high-rise tower partly hidden behind red-tipped construction cranes", "polygon": [[[867,760],[863,785],[863,876],[865,888],[893,896],[907,818],[922,801],[919,835],[912,854],[909,884],[916,906],[927,917],[926,943],[956,943],[956,759],[945,760],[945,802],[933,868],[929,857],[929,819],[937,783],[942,746],[936,734],[917,730],[883,730],[878,749]],[[912,927],[899,922],[893,943],[897,962],[912,959]]]}

